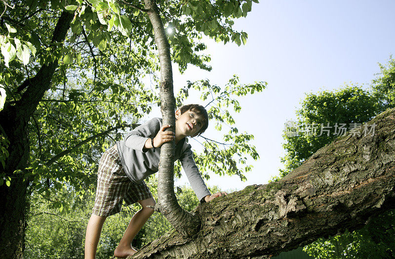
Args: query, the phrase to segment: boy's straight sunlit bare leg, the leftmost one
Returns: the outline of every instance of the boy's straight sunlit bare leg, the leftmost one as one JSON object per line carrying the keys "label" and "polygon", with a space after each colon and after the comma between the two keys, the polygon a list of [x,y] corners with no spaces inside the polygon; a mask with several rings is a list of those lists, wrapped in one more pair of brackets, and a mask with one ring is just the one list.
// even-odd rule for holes
{"label": "boy's straight sunlit bare leg, the leftmost one", "polygon": [[99,243],[100,233],[106,219],[107,217],[100,217],[95,214],[90,216],[85,234],[85,259],[94,259],[96,257],[97,244]]}

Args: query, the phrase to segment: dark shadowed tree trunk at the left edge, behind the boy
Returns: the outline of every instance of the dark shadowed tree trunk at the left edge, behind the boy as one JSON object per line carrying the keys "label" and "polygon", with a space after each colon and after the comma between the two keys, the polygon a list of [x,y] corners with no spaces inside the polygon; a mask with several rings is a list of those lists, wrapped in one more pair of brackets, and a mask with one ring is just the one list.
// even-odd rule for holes
{"label": "dark shadowed tree trunk at the left edge, behind the boy", "polygon": [[[70,28],[73,15],[63,12],[55,27],[52,43],[62,42]],[[53,46],[56,48],[56,45]],[[58,66],[57,60],[43,65],[40,71],[21,84],[25,89],[21,99],[10,105],[6,103],[0,111],[0,126],[8,141],[9,156],[5,161],[5,174],[11,177],[11,185],[0,186],[0,255],[2,258],[23,258],[26,190],[28,181],[15,170],[24,170],[29,159],[28,122],[37,109],[43,94],[50,87],[50,81]]]}

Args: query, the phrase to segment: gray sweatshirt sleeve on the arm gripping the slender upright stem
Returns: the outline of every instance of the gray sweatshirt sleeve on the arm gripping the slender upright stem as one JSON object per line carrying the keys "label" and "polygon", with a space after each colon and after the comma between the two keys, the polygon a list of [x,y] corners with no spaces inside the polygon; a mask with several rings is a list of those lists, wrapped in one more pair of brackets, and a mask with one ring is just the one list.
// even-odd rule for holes
{"label": "gray sweatshirt sleeve on the arm gripping the slender upright stem", "polygon": [[159,118],[153,118],[141,124],[126,135],[125,146],[141,152],[147,152],[148,149],[144,148],[144,145],[149,138],[154,138],[158,134],[160,126],[161,121]]}

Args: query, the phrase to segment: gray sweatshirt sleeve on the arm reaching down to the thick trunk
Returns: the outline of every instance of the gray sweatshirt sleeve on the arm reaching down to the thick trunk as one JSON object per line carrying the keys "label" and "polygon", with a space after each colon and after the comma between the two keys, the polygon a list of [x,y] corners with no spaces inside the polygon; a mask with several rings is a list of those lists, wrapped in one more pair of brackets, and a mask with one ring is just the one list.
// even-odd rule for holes
{"label": "gray sweatshirt sleeve on the arm reaching down to the thick trunk", "polygon": [[210,191],[207,189],[206,184],[204,184],[203,178],[201,178],[199,169],[196,166],[194,155],[191,150],[191,145],[184,145],[183,152],[180,156],[180,161],[185,173],[187,174],[189,183],[195,191],[197,199],[200,201],[207,195],[211,195]]}

